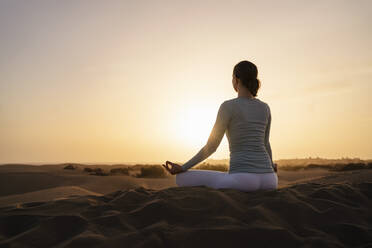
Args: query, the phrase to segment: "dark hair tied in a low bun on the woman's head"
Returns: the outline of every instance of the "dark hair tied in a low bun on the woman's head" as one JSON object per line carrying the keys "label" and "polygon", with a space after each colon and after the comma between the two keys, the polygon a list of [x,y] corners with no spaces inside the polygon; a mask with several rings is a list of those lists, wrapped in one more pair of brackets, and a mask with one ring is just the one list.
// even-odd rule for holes
{"label": "dark hair tied in a low bun on the woman's head", "polygon": [[234,75],[239,78],[245,87],[253,96],[257,96],[257,91],[261,86],[260,80],[257,78],[257,66],[247,60],[240,61],[234,66]]}

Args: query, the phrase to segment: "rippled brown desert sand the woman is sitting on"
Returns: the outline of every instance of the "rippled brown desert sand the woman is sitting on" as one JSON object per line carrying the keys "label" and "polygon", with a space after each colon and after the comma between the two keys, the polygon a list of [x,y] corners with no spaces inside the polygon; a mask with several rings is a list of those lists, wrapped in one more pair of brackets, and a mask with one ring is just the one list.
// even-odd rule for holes
{"label": "rippled brown desert sand the woman is sitting on", "polygon": [[240,192],[0,166],[0,247],[372,247],[372,170],[278,176]]}

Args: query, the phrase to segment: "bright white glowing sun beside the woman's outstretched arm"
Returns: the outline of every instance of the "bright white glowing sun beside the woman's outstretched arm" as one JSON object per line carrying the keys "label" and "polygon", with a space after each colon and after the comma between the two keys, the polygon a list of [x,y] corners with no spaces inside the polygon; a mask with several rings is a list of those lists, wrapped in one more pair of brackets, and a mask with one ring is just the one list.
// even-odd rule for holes
{"label": "bright white glowing sun beside the woman's outstretched arm", "polygon": [[217,111],[215,106],[185,106],[174,125],[174,132],[180,142],[191,147],[205,145],[216,121]]}

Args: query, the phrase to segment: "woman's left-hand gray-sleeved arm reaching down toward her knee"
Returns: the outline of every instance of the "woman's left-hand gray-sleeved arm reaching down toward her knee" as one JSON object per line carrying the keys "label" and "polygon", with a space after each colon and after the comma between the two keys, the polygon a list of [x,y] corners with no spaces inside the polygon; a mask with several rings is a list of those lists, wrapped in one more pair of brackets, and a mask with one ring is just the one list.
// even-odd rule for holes
{"label": "woman's left-hand gray-sleeved arm reaching down toward her knee", "polygon": [[216,122],[214,123],[211,134],[209,135],[207,144],[192,157],[189,161],[182,165],[184,171],[190,169],[194,165],[200,163],[204,159],[213,154],[221,143],[225,130],[227,129],[232,116],[231,109],[227,102],[223,102],[218,110]]}

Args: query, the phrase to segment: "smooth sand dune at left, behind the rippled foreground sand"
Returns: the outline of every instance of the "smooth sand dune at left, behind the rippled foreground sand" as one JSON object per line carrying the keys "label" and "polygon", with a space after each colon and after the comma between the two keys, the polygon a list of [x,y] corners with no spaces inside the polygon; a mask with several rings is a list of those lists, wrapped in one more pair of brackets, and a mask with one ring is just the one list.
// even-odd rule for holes
{"label": "smooth sand dune at left, behind the rippled foreground sand", "polygon": [[[138,186],[161,189],[175,185],[174,177],[160,179],[133,178],[130,176],[93,176],[82,171],[63,170],[60,166],[0,166],[1,197],[23,194],[55,187],[77,186],[99,194]],[[1,203],[0,203],[1,205]]]}

